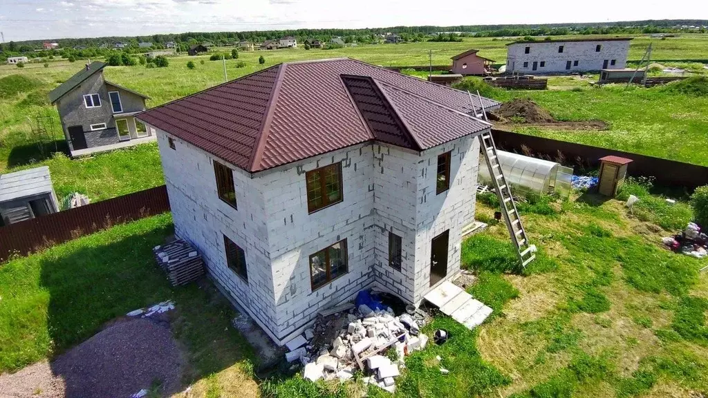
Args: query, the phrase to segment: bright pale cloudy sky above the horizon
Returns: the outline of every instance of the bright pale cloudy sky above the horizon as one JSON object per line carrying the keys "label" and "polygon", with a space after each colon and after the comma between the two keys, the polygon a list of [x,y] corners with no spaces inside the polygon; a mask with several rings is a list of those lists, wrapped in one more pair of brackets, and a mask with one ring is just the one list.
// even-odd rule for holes
{"label": "bright pale cloudy sky above the horizon", "polygon": [[708,19],[708,1],[680,4],[671,7],[656,0],[0,0],[0,31],[7,42],[187,31]]}

